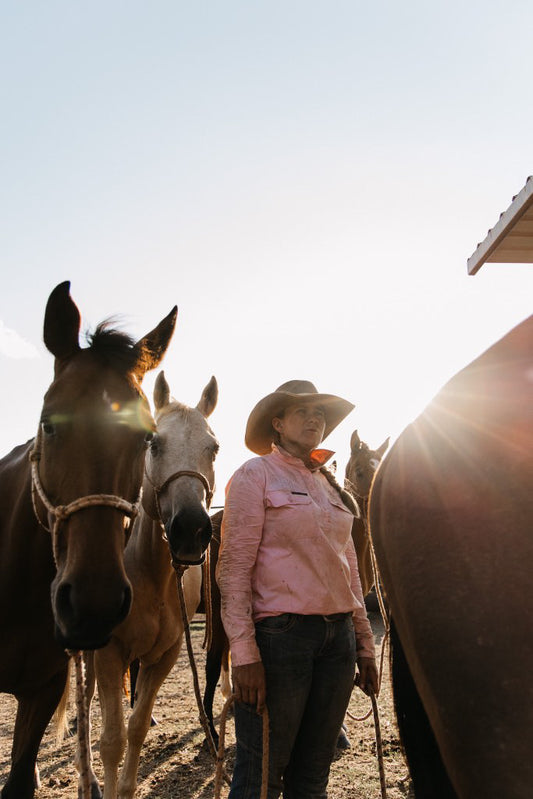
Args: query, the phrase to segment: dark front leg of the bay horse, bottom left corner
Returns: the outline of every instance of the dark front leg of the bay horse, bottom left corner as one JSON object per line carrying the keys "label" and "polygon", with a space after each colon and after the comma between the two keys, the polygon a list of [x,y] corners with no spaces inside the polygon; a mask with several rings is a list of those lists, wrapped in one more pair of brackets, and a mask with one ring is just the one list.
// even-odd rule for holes
{"label": "dark front leg of the bay horse, bottom left corner", "polygon": [[2,791],[2,799],[33,799],[37,753],[44,732],[63,695],[67,665],[37,693],[18,696],[17,716],[11,751],[11,771]]}

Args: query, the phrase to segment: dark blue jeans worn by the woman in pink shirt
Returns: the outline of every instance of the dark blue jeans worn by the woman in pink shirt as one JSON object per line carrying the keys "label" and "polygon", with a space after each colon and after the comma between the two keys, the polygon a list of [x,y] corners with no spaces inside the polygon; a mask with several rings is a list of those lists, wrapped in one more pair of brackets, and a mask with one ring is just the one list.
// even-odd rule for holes
{"label": "dark blue jeans worn by the woman in pink shirt", "polygon": [[[356,665],[351,614],[283,613],[256,624],[270,721],[268,799],[325,799]],[[262,718],[235,704],[237,748],[229,799],[259,799]]]}

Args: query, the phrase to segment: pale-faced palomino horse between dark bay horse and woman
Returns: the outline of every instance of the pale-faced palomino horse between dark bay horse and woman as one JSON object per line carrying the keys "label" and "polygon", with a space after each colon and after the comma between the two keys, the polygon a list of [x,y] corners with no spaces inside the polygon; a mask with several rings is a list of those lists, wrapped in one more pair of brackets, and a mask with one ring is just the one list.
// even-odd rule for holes
{"label": "pale-faced palomino horse between dark bay horse and woman", "polygon": [[[200,603],[200,564],[211,539],[207,512],[214,489],[217,440],[207,423],[215,408],[214,377],[196,408],[170,399],[161,373],[154,389],[157,433],[146,456],[142,509],[124,556],[133,586],[131,612],[114,630],[110,643],[95,652],[102,706],[100,754],[104,797],[132,797],[137,785],[141,747],[163,680],[177,660],[184,621],[174,566],[189,566],[183,578],[188,618]],[[170,550],[170,551],[169,551]],[[127,730],[123,714],[123,677],[132,660],[140,661],[136,700]]]}

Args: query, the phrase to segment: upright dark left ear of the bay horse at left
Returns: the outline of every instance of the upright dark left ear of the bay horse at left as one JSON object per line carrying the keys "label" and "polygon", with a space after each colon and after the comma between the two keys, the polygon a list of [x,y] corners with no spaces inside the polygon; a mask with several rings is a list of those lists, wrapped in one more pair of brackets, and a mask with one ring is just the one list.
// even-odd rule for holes
{"label": "upright dark left ear of the bay horse at left", "polygon": [[70,280],[65,280],[48,297],[44,313],[44,343],[58,360],[80,349],[80,322],[80,312],[70,296]]}

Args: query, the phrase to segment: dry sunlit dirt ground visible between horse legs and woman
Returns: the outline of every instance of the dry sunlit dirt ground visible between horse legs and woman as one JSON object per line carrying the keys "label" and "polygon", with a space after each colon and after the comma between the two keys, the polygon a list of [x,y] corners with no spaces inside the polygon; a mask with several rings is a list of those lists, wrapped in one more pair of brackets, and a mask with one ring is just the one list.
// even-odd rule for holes
{"label": "dry sunlit dirt ground visible between horse legs and woman", "polygon": [[[369,613],[374,629],[378,653],[383,639],[383,624],[377,613]],[[204,685],[205,654],[202,650],[204,618],[195,617],[192,624],[192,642],[198,664],[201,691]],[[16,703],[13,697],[0,696],[0,786],[9,772],[11,739]],[[215,697],[216,722],[224,704],[219,691]],[[128,700],[124,698],[125,712]],[[371,708],[370,700],[358,689],[354,690],[349,712],[363,716]],[[391,704],[387,657],[381,694],[378,699],[384,769],[388,799],[412,799],[407,778],[407,768],[400,750],[398,732]],[[74,716],[74,693],[69,716]],[[204,733],[194,694],[194,684],[187,648],[184,644],[178,662],[167,677],[154,707],[158,724],[146,737],[141,755],[139,782],[136,797],[144,799],[212,799],[214,797],[215,766],[204,743]],[[98,752],[99,707],[93,703],[92,743],[94,769],[102,781],[103,774]],[[338,755],[333,763],[329,784],[329,799],[380,799],[378,760],[372,715],[366,721],[347,718],[348,734],[352,748]],[[229,718],[226,732],[226,769],[231,773],[234,756],[233,722]],[[56,744],[54,730],[47,730],[38,765],[41,788],[36,799],[77,799],[77,774],[73,763],[76,739],[67,738]],[[227,797],[224,784],[221,797]]]}

